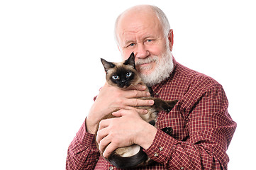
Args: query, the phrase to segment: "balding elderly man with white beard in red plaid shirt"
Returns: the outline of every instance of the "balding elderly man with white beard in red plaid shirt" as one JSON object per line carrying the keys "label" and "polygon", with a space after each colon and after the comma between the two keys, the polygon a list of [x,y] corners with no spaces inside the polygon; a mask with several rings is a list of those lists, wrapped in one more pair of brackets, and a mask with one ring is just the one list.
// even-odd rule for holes
{"label": "balding elderly man with white beard in red plaid shirt", "polygon": [[[144,169],[227,169],[226,150],[236,123],[228,114],[228,100],[217,81],[182,66],[172,57],[173,31],[160,8],[134,6],[116,20],[116,40],[123,60],[135,54],[135,63],[153,96],[179,100],[169,113],[160,112],[157,128],[145,123],[133,106],[151,106],[145,86],[122,91],[105,84],[99,91],[84,124],[69,145],[66,169],[116,169],[99,156],[94,143],[96,125],[113,113],[117,118],[101,121],[99,149],[108,157],[118,147],[137,144],[154,164]],[[172,128],[167,135],[161,129]]]}

